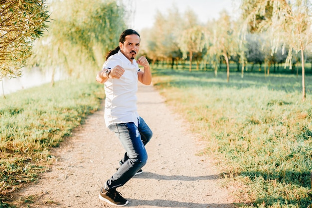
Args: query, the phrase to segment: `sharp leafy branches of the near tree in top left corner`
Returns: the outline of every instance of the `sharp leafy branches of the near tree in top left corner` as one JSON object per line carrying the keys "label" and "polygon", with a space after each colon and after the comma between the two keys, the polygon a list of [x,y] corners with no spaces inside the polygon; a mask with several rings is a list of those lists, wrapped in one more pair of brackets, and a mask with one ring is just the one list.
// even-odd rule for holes
{"label": "sharp leafy branches of the near tree in top left corner", "polygon": [[0,80],[21,76],[48,19],[45,0],[0,0]]}

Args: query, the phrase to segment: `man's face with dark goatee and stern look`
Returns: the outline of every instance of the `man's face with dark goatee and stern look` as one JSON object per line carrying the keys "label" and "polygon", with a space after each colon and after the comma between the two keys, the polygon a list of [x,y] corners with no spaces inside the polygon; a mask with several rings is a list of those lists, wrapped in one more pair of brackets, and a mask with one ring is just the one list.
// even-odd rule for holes
{"label": "man's face with dark goatee and stern look", "polygon": [[132,62],[140,49],[140,37],[136,34],[127,35],[125,42],[119,43],[121,52]]}

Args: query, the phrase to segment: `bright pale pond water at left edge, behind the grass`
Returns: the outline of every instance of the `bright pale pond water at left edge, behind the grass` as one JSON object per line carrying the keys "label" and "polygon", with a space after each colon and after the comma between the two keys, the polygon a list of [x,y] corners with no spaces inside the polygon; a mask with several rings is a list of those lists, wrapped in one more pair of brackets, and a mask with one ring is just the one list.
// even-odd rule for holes
{"label": "bright pale pond water at left edge, behind the grass", "polygon": [[[0,81],[0,95],[3,96],[7,95],[12,92],[16,92],[18,90],[23,90],[29,87],[39,86],[41,84],[45,84],[51,81],[52,70],[50,71],[40,71],[39,68],[31,68],[22,70],[22,76],[17,78],[6,79],[2,80],[3,83]],[[54,80],[58,81],[63,79],[63,75],[59,69],[55,71]],[[2,91],[3,86],[3,91]]]}

